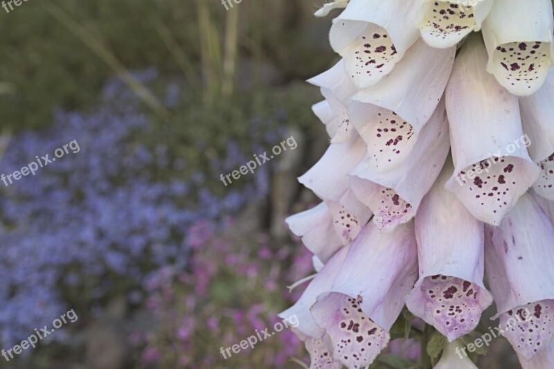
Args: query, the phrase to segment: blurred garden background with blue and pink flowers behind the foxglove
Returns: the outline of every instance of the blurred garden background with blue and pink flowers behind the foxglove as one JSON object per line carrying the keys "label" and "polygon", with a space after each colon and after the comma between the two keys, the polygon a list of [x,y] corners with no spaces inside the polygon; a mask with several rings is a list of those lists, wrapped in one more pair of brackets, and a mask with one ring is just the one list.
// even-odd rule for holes
{"label": "blurred garden background with blue and pink flowers behind the foxglove", "polygon": [[[304,81],[337,62],[311,0],[28,0],[0,9],[1,368],[301,368],[272,327],[313,273],[284,218],[328,145]],[[229,8],[229,10],[227,10]],[[9,7],[7,8],[10,9]],[[224,186],[294,136],[298,147]],[[497,340],[500,341],[500,340]],[[413,356],[413,344],[393,350]],[[497,353],[506,357],[504,345]],[[415,356],[419,351],[415,347]],[[494,351],[494,350],[493,350]],[[294,359],[292,359],[294,358]],[[487,357],[485,357],[487,359]],[[513,357],[501,368],[518,368]],[[489,359],[486,368],[494,368]]]}

